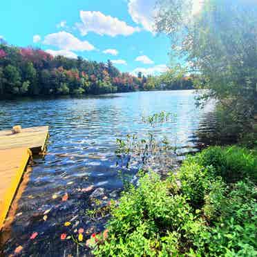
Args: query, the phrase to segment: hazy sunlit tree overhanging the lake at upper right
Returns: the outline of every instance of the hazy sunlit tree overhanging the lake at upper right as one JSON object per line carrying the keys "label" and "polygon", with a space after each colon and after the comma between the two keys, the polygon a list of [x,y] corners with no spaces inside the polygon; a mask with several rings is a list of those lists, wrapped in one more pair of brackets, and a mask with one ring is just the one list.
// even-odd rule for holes
{"label": "hazy sunlit tree overhanging the lake at upper right", "polygon": [[202,98],[220,100],[245,127],[257,111],[257,5],[206,0],[198,12],[191,6],[191,0],[160,0],[156,26],[207,82]]}

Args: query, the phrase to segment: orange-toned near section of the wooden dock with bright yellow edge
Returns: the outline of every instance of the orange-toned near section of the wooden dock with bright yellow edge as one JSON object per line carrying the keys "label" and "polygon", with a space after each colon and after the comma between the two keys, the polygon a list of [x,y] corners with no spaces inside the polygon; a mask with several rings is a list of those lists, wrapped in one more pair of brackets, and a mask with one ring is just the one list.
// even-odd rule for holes
{"label": "orange-toned near section of the wooden dock with bright yellow edge", "polygon": [[31,152],[28,148],[0,150],[0,229],[19,187]]}

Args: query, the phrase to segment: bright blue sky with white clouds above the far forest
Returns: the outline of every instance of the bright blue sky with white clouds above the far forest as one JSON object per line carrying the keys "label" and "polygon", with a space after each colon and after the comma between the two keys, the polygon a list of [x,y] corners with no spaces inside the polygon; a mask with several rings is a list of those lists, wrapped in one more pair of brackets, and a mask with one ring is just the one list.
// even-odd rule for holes
{"label": "bright blue sky with white clouds above the far forest", "polygon": [[[169,65],[170,40],[152,29],[155,0],[8,0],[0,36],[53,55],[111,59],[122,71],[158,73]],[[105,53],[104,53],[105,52]]]}

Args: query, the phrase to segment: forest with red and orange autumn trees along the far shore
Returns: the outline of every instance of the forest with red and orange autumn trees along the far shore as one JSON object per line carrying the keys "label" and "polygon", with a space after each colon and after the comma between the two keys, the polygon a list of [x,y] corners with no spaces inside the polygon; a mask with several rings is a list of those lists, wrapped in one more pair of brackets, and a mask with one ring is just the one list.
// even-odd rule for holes
{"label": "forest with red and orange autumn trees along the far shore", "polygon": [[111,61],[53,57],[37,48],[0,42],[0,97],[99,95],[133,91],[192,89],[193,77],[167,70],[160,76],[121,73]]}

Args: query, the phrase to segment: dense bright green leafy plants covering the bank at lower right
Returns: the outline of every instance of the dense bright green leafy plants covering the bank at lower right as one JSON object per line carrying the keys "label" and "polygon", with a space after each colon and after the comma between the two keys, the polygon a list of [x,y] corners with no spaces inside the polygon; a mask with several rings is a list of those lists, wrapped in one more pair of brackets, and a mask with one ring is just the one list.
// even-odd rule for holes
{"label": "dense bright green leafy plants covering the bank at lower right", "polygon": [[123,193],[96,256],[257,256],[256,155],[210,147],[177,175],[140,175]]}

